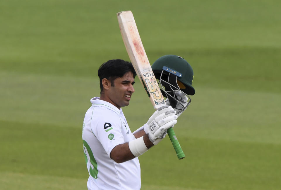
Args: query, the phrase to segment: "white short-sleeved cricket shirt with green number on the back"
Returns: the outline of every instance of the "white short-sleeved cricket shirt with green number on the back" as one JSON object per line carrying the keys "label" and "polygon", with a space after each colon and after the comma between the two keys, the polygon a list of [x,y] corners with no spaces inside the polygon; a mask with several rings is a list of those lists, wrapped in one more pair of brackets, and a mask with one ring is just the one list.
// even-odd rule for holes
{"label": "white short-sleeved cricket shirt with green number on the back", "polygon": [[140,189],[138,158],[116,163],[110,152],[119,144],[134,140],[122,109],[99,97],[91,99],[92,106],[83,122],[83,148],[89,172],[89,190]]}

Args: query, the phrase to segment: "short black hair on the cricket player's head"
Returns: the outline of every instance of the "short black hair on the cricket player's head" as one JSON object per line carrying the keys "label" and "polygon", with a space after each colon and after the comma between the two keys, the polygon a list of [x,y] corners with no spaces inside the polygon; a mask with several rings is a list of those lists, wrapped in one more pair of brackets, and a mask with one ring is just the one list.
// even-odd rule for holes
{"label": "short black hair on the cricket player's head", "polygon": [[121,59],[108,60],[103,63],[97,74],[100,77],[100,91],[103,91],[102,79],[110,80],[111,86],[114,86],[114,80],[119,77],[123,77],[127,72],[132,72],[133,77],[136,77],[136,71],[131,62]]}

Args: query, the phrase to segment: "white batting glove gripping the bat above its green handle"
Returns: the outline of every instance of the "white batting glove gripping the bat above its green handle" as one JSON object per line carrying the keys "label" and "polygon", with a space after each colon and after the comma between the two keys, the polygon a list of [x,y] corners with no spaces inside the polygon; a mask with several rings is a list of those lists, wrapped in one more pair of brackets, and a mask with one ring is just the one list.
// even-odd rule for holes
{"label": "white batting glove gripping the bat above its green handle", "polygon": [[149,140],[157,145],[165,138],[167,129],[177,123],[178,116],[172,106],[162,106],[158,108],[143,126],[145,133],[148,133]]}

